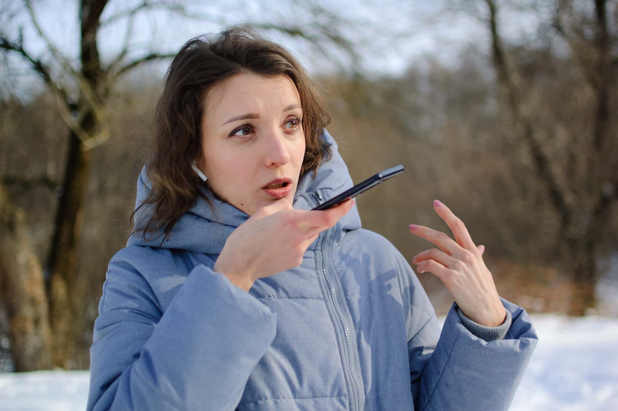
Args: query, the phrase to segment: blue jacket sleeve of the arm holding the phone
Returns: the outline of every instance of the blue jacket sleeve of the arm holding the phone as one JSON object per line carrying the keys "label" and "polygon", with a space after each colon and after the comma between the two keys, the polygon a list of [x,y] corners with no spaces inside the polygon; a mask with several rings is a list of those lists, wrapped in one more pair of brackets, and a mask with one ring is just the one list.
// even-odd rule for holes
{"label": "blue jacket sleeve of the arm holding the phone", "polygon": [[234,410],[275,333],[274,311],[205,265],[161,313],[146,279],[110,262],[87,411]]}

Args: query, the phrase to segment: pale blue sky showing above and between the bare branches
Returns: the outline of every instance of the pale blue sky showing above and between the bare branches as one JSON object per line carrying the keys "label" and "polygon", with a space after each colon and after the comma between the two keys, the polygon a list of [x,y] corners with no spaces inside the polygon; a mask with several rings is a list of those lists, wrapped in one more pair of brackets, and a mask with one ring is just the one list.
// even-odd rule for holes
{"label": "pale blue sky showing above and between the bare branches", "polygon": [[[119,12],[127,11],[143,0],[111,0],[104,9],[101,21]],[[517,0],[525,3],[530,0]],[[161,1],[150,0],[151,3]],[[474,13],[456,12],[462,5],[472,4],[470,0],[408,1],[394,0],[229,0],[198,2],[193,0],[171,0],[167,2],[184,6],[190,14],[200,15],[200,19],[190,18],[182,13],[170,12],[163,7],[153,7],[151,11],[135,14],[132,35],[129,40],[127,60],[150,51],[173,53],[194,35],[218,32],[225,25],[243,22],[277,22],[286,25],[307,25],[315,30],[316,23],[326,27],[337,27],[350,38],[360,52],[361,60],[355,69],[369,75],[398,75],[421,61],[424,56],[432,56],[443,64],[457,64],[457,58],[468,44],[476,44],[481,49],[489,46],[488,33]],[[205,5],[204,5],[205,4]],[[482,6],[482,2],[479,3]],[[530,36],[538,27],[543,12],[522,12],[509,9],[502,13],[502,27],[507,38],[520,39]],[[334,24],[330,20],[316,17],[310,7],[326,7],[343,23]],[[54,45],[65,62],[77,66],[79,53],[78,2],[70,0],[33,0],[33,10],[41,31]],[[483,7],[479,11],[483,12]],[[525,15],[525,19],[518,18]],[[99,30],[99,51],[106,62],[122,49],[129,19],[117,19]],[[0,0],[0,30],[11,39],[16,39],[19,30],[23,33],[23,44],[33,56],[49,61],[48,46],[33,27],[30,16],[20,0]],[[331,61],[324,59],[315,44],[309,41],[290,38],[277,32],[263,32],[271,40],[281,43],[294,53],[312,74],[334,72],[341,67],[350,71],[352,64],[345,53],[319,43],[329,49],[334,56]],[[163,75],[169,64],[155,63],[155,72]],[[61,66],[57,65],[58,72]],[[27,62],[13,54],[0,57],[0,82],[3,87],[23,92],[41,86],[40,80],[32,73]]]}

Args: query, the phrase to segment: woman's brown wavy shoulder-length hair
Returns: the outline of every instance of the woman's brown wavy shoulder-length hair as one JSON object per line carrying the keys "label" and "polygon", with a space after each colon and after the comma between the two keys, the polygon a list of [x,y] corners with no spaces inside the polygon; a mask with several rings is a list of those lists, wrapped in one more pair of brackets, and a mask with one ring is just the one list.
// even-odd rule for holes
{"label": "woman's brown wavy shoulder-length hair", "polygon": [[[246,25],[226,28],[215,36],[195,36],[180,48],[167,69],[146,161],[146,176],[152,189],[131,214],[132,229],[125,243],[133,234],[143,232],[146,240],[147,232],[164,228],[163,244],[180,216],[196,204],[198,195],[213,210],[211,201],[200,192],[205,182],[191,168],[191,161],[201,156],[205,96],[215,85],[247,72],[286,75],[294,82],[303,109],[306,146],[300,177],[313,171],[315,178],[318,166],[331,157],[330,148],[320,138],[331,121],[323,88],[308,76],[287,49]],[[150,207],[150,215],[147,214],[148,220],[136,228],[135,215],[148,204],[154,205]]]}

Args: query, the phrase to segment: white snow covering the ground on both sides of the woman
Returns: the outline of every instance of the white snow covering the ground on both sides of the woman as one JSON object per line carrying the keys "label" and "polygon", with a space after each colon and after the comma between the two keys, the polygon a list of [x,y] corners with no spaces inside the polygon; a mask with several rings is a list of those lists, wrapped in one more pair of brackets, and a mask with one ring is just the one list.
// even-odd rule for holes
{"label": "white snow covering the ground on both sides of the woman", "polygon": [[[618,318],[531,317],[539,343],[510,410],[618,410]],[[88,371],[0,373],[0,411],[83,411],[87,398]]]}

